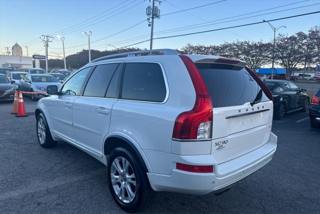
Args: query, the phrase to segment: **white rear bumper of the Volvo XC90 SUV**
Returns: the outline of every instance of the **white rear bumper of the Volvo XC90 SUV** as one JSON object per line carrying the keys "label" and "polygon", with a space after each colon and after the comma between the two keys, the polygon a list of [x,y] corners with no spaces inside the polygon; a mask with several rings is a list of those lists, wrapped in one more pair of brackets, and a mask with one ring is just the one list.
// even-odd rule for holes
{"label": "white rear bumper of the Volvo XC90 SUV", "polygon": [[[234,185],[237,181],[250,175],[269,162],[276,150],[276,141],[277,137],[271,132],[268,142],[261,147],[219,165],[213,163],[213,173],[195,173],[173,168],[169,175],[147,173],[147,176],[151,187],[155,191],[172,191],[188,194],[206,194],[209,192],[218,193]],[[189,155],[184,156],[185,159],[190,159],[190,157],[188,157]],[[202,155],[192,156],[197,156],[195,158],[201,158]],[[183,155],[179,155],[179,158],[181,157],[183,158]],[[194,158],[192,159],[194,160]],[[214,161],[215,160],[212,157],[212,162]],[[227,173],[225,176],[219,177],[216,175],[216,171],[218,170],[217,167],[220,167],[219,170],[221,170],[223,167],[229,167],[232,165],[232,162],[238,161],[243,162],[241,167],[236,170],[232,170],[231,173]],[[212,162],[208,164],[212,164]],[[196,165],[197,162],[194,162],[194,164]]]}

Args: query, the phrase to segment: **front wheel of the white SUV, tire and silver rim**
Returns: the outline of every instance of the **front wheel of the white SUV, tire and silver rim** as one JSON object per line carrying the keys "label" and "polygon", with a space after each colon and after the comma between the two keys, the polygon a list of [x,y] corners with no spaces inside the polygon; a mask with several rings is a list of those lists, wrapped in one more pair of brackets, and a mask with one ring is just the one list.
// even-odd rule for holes
{"label": "front wheel of the white SUV, tire and silver rim", "polygon": [[[41,122],[43,122],[44,126],[40,125]],[[35,128],[36,128],[36,136],[37,136],[38,142],[42,147],[51,148],[56,145],[57,141],[53,140],[51,133],[50,133],[50,130],[49,130],[49,126],[46,123],[42,113],[39,113],[39,115],[36,117]],[[43,133],[40,134],[41,130],[42,130],[42,132],[45,133],[44,136],[43,136]],[[43,138],[42,138],[42,136],[43,136]]]}

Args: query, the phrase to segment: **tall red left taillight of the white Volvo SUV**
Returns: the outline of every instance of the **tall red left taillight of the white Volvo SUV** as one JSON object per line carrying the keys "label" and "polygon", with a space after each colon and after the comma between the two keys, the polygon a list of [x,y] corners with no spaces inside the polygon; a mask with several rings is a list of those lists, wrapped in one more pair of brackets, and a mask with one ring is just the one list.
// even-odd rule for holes
{"label": "tall red left taillight of the white Volvo SUV", "polygon": [[210,139],[212,128],[212,103],[206,85],[193,61],[179,55],[193,83],[195,103],[191,110],[180,113],[174,123],[172,138]]}

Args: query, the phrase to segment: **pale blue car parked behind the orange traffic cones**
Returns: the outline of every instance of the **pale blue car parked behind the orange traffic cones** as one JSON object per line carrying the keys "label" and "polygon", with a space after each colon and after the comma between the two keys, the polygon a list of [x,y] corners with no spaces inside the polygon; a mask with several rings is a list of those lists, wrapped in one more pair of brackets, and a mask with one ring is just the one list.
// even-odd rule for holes
{"label": "pale blue car parked behind the orange traffic cones", "polygon": [[35,101],[38,98],[48,96],[46,93],[46,86],[48,85],[56,85],[59,87],[61,83],[49,74],[26,74],[20,80],[19,89],[28,92],[41,92],[30,94],[32,101]]}

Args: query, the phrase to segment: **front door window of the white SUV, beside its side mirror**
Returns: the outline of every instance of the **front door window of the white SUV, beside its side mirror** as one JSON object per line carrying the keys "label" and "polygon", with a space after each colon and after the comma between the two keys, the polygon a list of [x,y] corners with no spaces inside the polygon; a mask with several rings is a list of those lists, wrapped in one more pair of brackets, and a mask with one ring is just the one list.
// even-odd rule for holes
{"label": "front door window of the white SUV, beside its side mirror", "polygon": [[63,85],[61,94],[78,96],[80,94],[80,90],[84,82],[84,79],[87,76],[90,69],[91,67],[83,68],[82,70],[78,71],[73,76],[71,76]]}

